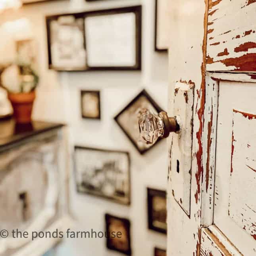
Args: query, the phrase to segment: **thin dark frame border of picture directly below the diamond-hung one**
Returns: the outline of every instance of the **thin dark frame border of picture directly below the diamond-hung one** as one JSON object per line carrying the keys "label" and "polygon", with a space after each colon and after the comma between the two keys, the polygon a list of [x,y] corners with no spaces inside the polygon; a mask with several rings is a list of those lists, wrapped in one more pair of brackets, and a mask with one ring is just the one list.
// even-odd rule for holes
{"label": "thin dark frame border of picture directly below the diamond-hung one", "polygon": [[94,194],[93,192],[89,192],[89,191],[87,191],[87,192],[79,191],[79,188],[77,187],[77,183],[76,183],[76,172],[77,172],[77,170],[76,170],[76,163],[75,163],[75,152],[74,152],[74,155],[73,155],[73,163],[74,163],[74,171],[75,171],[75,185],[77,187],[77,192],[78,193],[89,194],[89,195],[92,195],[92,196],[97,196],[98,198],[105,198],[105,199],[108,199],[112,202],[116,202],[116,203],[119,203],[119,204],[129,206],[131,204],[131,159],[130,159],[129,152],[121,151],[121,150],[108,150],[108,149],[102,149],[102,148],[90,148],[90,147],[85,147],[85,146],[75,146],[74,150],[77,150],[77,149],[86,149],[86,150],[94,150],[94,151],[102,151],[102,152],[123,153],[123,154],[127,155],[127,159],[128,159],[128,182],[129,182],[128,203],[124,203],[124,202],[116,200],[112,197],[105,196],[104,194],[98,195],[98,194]]}

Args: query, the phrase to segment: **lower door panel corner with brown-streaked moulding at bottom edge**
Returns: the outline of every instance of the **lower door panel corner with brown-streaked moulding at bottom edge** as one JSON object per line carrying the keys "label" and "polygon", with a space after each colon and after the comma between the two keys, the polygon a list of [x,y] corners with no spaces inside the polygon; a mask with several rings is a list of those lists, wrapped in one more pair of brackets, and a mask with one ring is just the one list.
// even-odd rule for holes
{"label": "lower door panel corner with brown-streaked moulding at bottom edge", "polygon": [[242,254],[212,225],[202,229],[200,256],[242,256]]}

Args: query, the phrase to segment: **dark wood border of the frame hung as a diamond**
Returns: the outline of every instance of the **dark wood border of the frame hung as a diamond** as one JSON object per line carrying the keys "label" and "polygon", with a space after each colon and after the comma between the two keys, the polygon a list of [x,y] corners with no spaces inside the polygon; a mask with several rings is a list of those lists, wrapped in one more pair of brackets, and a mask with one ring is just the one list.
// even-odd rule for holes
{"label": "dark wood border of the frame hung as a diamond", "polygon": [[[125,108],[123,108],[123,110],[121,110],[121,112],[119,112],[115,117],[115,121],[117,122],[117,124],[119,125],[119,127],[123,130],[123,132],[125,133],[125,135],[129,138],[129,140],[133,143],[133,145],[135,146],[135,148],[139,151],[140,154],[144,154],[146,151],[150,150],[157,142],[159,142],[161,139],[158,139],[155,144],[153,144],[150,148],[147,148],[145,150],[140,150],[139,147],[137,146],[137,144],[131,139],[131,137],[129,136],[129,134],[125,131],[125,129],[122,127],[122,125],[118,122],[118,117],[119,115],[121,115],[123,112],[125,112],[127,110],[127,108],[129,108],[131,105],[133,105],[139,97],[141,97],[142,95],[146,96],[146,98],[148,99],[148,101],[152,104],[152,106],[157,110],[157,112],[162,112],[163,109],[160,108],[160,106],[153,100],[153,98],[148,94],[148,92],[146,92],[146,90],[142,90],[137,96],[135,96],[135,98],[127,105],[125,106]],[[138,126],[139,127],[139,126]],[[139,129],[139,128],[138,128]]]}

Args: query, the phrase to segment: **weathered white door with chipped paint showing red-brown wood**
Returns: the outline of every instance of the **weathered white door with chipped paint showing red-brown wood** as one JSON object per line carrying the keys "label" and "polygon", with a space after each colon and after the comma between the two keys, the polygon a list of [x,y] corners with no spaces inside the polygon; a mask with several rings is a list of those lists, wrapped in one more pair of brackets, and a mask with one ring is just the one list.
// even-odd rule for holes
{"label": "weathered white door with chipped paint showing red-brown wood", "polygon": [[167,255],[256,255],[256,0],[169,8],[168,115],[188,88],[191,138],[168,138]]}

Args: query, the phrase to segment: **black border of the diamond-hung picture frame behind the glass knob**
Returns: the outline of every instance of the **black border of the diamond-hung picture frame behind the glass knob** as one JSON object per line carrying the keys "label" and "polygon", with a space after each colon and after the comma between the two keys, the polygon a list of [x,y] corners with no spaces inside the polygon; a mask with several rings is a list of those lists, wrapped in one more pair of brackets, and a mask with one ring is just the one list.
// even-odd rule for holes
{"label": "black border of the diamond-hung picture frame behind the glass knob", "polygon": [[[156,112],[159,113],[159,112],[163,111],[163,109],[156,103],[156,101],[150,96],[150,94],[148,94],[148,92],[146,92],[146,90],[143,89],[137,96],[135,96],[135,98],[133,98],[133,100],[131,100],[131,102],[129,102],[129,104],[127,104],[127,106],[125,106],[117,115],[115,115],[114,120],[119,125],[119,127],[122,129],[122,131],[125,133],[125,135],[129,138],[129,140],[132,142],[132,144],[135,146],[135,148],[138,150],[138,152],[140,154],[144,154],[150,148],[152,148],[154,145],[156,145],[161,139],[158,139],[153,145],[148,146],[148,148],[141,149],[139,147],[139,145],[135,142],[135,140],[127,133],[127,130],[125,129],[125,127],[123,127],[123,125],[118,120],[119,116],[121,116],[129,107],[131,107],[133,104],[135,104],[135,102],[137,102],[137,100],[139,100],[139,98],[141,98],[141,96],[146,97],[148,102],[156,109]],[[136,113],[133,113],[133,115],[135,116]],[[128,120],[127,120],[127,122],[128,122]],[[138,131],[139,131],[139,124],[138,124]]]}

